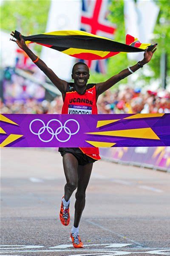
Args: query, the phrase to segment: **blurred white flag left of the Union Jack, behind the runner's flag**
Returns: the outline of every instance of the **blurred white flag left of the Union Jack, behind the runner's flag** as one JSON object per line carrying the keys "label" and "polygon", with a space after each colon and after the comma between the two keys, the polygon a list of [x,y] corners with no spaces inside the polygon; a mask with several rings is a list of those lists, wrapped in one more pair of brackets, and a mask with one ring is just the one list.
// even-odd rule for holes
{"label": "blurred white flag left of the Union Jack, behind the runner's flag", "polygon": [[[51,1],[45,32],[59,30],[79,30],[81,0]],[[71,69],[75,59],[47,47],[42,47],[41,58],[61,79],[71,80]]]}

